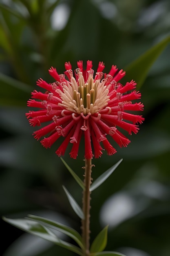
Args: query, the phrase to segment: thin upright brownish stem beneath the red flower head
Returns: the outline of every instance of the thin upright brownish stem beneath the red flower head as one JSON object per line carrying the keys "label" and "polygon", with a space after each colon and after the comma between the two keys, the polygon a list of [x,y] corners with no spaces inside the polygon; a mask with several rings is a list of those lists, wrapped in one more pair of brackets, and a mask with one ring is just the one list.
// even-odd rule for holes
{"label": "thin upright brownish stem beneath the red flower head", "polygon": [[85,174],[84,174],[84,191],[83,191],[83,212],[84,220],[82,220],[82,238],[84,241],[84,256],[89,256],[89,247],[90,247],[90,200],[91,200],[91,159],[85,159]]}

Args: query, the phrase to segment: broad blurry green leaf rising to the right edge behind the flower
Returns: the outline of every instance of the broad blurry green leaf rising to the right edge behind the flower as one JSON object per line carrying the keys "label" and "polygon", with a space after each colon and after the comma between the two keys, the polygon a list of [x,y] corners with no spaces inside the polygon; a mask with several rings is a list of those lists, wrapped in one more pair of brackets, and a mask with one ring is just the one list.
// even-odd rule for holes
{"label": "broad blurry green leaf rising to the right edge behind the flower", "polygon": [[147,52],[125,67],[126,81],[127,79],[129,81],[132,79],[135,80],[137,82],[137,88],[139,89],[144,83],[150,67],[159,57],[161,52],[163,52],[168,43],[170,43],[170,36],[151,47]]}

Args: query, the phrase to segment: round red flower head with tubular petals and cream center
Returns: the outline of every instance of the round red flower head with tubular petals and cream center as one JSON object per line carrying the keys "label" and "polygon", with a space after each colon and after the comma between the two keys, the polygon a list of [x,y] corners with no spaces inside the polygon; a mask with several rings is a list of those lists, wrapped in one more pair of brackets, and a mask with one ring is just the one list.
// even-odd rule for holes
{"label": "round red flower head with tubular petals and cream center", "polygon": [[31,126],[41,126],[44,122],[49,124],[36,130],[33,136],[39,140],[48,135],[40,141],[45,148],[50,148],[59,137],[64,137],[56,151],[59,157],[64,155],[70,142],[73,146],[69,154],[76,159],[83,135],[86,159],[101,157],[104,149],[108,155],[113,155],[117,151],[106,136],[112,137],[120,147],[126,147],[130,140],[119,128],[126,130],[129,135],[132,132],[136,134],[139,130],[137,123],[144,121],[141,115],[129,113],[144,109],[141,102],[132,103],[141,98],[141,93],[134,90],[137,84],[133,80],[124,86],[118,83],[125,72],[118,71],[115,65],[106,74],[102,72],[104,63],[99,62],[95,76],[92,61],[87,61],[86,70],[83,69],[82,61],[78,61],[77,66],[75,77],[71,63],[66,62],[64,74],[58,74],[53,67],[49,69],[55,82],[47,83],[38,79],[37,85],[46,92],[32,92],[32,99],[29,99],[27,106],[40,110],[29,111],[26,117]]}

